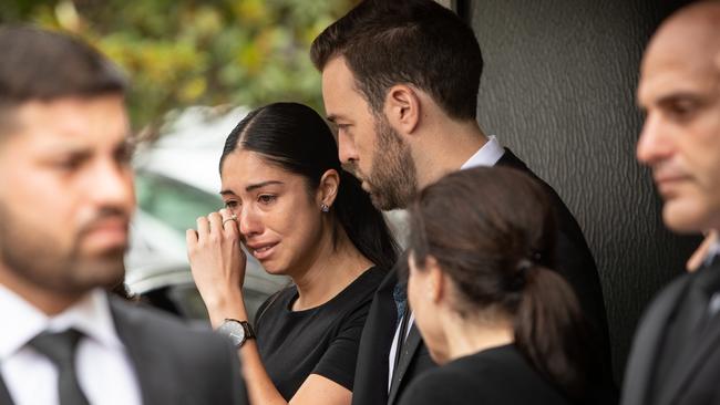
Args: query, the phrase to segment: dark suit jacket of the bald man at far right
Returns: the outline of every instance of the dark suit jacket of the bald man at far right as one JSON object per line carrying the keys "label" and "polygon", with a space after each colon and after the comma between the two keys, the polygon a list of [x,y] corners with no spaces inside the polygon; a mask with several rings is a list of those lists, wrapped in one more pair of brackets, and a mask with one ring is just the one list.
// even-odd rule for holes
{"label": "dark suit jacket of the bald man at far right", "polygon": [[[720,271],[720,267],[712,269]],[[625,372],[624,405],[720,404],[720,318],[709,320],[706,334],[692,353],[680,359],[665,381],[652,384],[658,359],[665,355],[664,338],[672,328],[690,281],[695,274],[685,274],[668,285],[648,308],[635,335]],[[665,349],[669,350],[669,349]]]}

